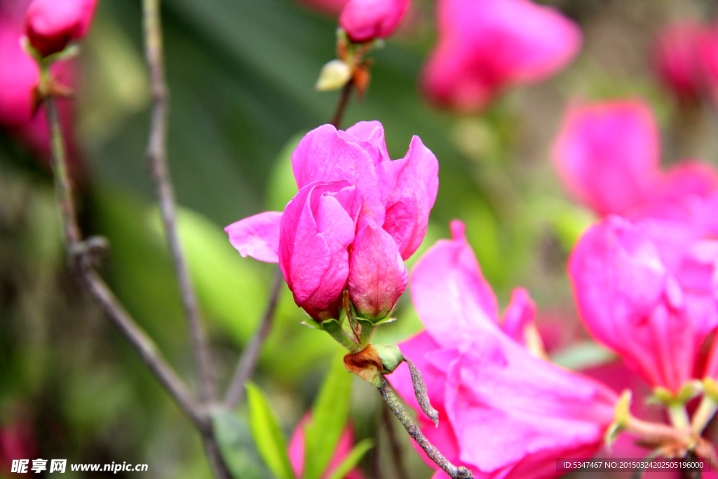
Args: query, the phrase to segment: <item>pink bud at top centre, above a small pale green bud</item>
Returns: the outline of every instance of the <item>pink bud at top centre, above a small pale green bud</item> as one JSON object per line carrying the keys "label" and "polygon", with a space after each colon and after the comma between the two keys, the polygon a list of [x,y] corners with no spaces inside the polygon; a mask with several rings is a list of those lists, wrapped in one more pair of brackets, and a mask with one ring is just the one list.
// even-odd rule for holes
{"label": "pink bud at top centre, above a small pale green bud", "polygon": [[339,26],[355,43],[386,38],[396,30],[407,9],[409,0],[349,0]]}

